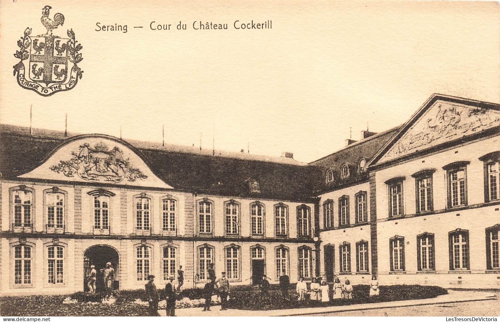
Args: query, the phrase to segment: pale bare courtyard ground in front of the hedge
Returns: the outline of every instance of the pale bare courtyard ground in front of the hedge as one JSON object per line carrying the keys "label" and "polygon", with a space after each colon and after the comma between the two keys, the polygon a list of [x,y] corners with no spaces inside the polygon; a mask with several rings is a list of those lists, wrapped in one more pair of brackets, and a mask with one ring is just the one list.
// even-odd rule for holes
{"label": "pale bare courtyard ground in front of the hedge", "polygon": [[[454,291],[433,299],[394,301],[372,304],[354,304],[349,306],[332,306],[322,308],[301,308],[288,310],[220,311],[220,306],[211,307],[210,312],[201,308],[177,309],[179,317],[223,317],[223,316],[499,316],[500,293],[498,291]],[[165,316],[165,310],[158,311]]]}

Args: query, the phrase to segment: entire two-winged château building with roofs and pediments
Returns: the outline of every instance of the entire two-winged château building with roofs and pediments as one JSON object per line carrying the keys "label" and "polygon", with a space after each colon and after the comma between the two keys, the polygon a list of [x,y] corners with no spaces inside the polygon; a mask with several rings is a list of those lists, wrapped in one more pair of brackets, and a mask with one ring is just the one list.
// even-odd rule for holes
{"label": "entire two-winged ch\u00e2teau building with roofs and pediments", "polygon": [[2,125],[0,292],[116,289],[214,264],[233,285],[321,276],[500,288],[498,104],[432,95],[309,164]]}

